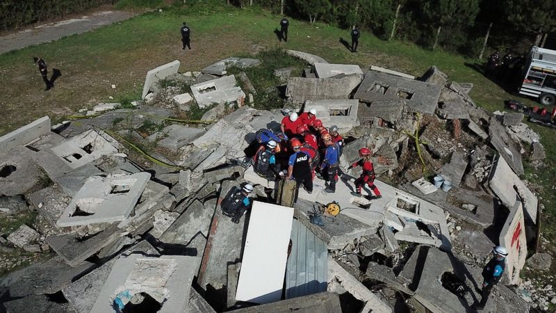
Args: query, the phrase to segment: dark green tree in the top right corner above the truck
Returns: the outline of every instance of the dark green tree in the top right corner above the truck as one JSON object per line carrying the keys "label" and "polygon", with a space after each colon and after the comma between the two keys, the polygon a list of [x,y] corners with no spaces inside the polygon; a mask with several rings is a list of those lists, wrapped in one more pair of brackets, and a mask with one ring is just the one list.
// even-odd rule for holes
{"label": "dark green tree in the top right corner above the truck", "polygon": [[556,0],[508,0],[504,8],[508,22],[516,29],[537,34],[535,45],[543,33],[556,30]]}

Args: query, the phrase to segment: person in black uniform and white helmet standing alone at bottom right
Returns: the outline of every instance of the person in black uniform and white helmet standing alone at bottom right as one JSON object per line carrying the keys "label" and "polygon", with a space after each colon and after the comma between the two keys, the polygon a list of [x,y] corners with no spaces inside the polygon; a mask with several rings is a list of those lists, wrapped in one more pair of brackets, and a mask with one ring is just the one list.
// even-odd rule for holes
{"label": "person in black uniform and white helmet standing alone at bottom right", "polygon": [[498,284],[506,267],[505,258],[508,255],[506,248],[496,246],[493,248],[492,253],[494,255],[493,258],[482,269],[482,278],[484,281],[482,283],[482,288],[477,289],[481,294],[481,302],[473,304],[472,307],[475,310],[484,309],[486,301],[489,300],[492,288],[495,284]]}

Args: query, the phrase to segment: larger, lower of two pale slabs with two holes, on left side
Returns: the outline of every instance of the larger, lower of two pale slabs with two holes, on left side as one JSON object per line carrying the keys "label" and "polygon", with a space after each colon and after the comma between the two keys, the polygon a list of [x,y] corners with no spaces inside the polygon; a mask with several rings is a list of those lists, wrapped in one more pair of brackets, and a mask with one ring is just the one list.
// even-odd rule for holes
{"label": "larger, lower of two pale slabs with two holes, on left side", "polygon": [[136,206],[150,178],[148,172],[90,177],[56,225],[66,227],[124,220]]}

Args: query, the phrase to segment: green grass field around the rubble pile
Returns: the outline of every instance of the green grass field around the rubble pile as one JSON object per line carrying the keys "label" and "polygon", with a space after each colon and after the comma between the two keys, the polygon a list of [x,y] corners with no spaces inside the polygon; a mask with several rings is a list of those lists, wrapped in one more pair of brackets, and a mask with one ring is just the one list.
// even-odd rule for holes
{"label": "green grass field around the rubble pile", "polygon": [[[89,33],[2,54],[0,134],[43,115],[62,120],[77,109],[113,102],[109,96],[115,100],[137,98],[147,71],[163,63],[177,59],[181,61],[181,72],[195,71],[221,58],[245,56],[261,48],[297,49],[318,54],[330,63],[377,65],[416,76],[436,65],[451,80],[473,83],[471,97],[489,111],[502,110],[505,99],[516,98],[477,72],[475,59],[423,49],[409,42],[383,41],[369,33],[361,35],[359,52],[352,54],[340,42],[340,38],[348,40],[347,30],[297,20],[291,20],[289,41],[279,42],[273,32],[279,19],[261,10],[156,11]],[[179,27],[183,21],[192,29],[192,51],[181,50]],[[44,83],[33,56],[42,56],[49,69],[62,72],[54,90],[43,91]],[[117,88],[112,89],[112,84]],[[522,100],[532,104],[530,99]],[[531,127],[541,134],[548,159],[545,168],[526,166],[525,177],[544,188],[539,194],[546,207],[543,236],[555,242],[556,145],[552,141],[556,130]]]}

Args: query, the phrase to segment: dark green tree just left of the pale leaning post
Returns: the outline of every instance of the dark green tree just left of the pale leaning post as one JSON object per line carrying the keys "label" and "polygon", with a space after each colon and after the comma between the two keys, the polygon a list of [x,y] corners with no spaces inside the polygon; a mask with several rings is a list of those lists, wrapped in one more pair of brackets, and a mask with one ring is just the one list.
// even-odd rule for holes
{"label": "dark green tree just left of the pale leaning post", "polygon": [[439,40],[442,28],[450,29],[459,35],[473,24],[479,3],[477,0],[431,0],[425,1],[423,5],[423,16],[436,30],[433,49]]}

